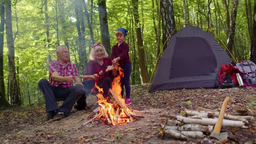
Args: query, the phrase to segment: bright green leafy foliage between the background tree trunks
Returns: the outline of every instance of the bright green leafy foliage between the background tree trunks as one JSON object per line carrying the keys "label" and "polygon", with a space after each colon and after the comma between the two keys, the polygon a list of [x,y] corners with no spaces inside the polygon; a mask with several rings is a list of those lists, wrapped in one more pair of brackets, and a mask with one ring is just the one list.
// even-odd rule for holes
{"label": "bright green leafy foliage between the background tree trunks", "polygon": [[[14,3],[15,1],[12,1]],[[80,65],[79,52],[78,52],[78,34],[76,28],[76,18],[75,18],[75,1],[73,0],[57,0],[57,11],[58,11],[58,23],[59,23],[59,41],[63,45],[66,42],[69,43],[70,60],[71,62],[78,65],[79,75],[82,75],[83,67]],[[158,8],[159,0],[138,0],[138,11],[140,18],[140,26],[143,36],[143,43],[147,59],[147,69],[148,77],[151,74],[154,75],[156,68],[154,65],[158,56],[157,53],[157,31],[158,31]],[[197,4],[198,2],[198,4]],[[16,38],[14,40],[15,46],[15,66],[16,72],[19,70],[19,85],[21,99],[23,105],[29,104],[29,96],[31,104],[43,102],[44,98],[38,89],[37,83],[39,79],[48,79],[48,55],[51,56],[52,60],[56,59],[55,49],[57,46],[57,35],[56,35],[56,1],[48,0],[48,16],[49,16],[49,47],[46,47],[46,25],[45,25],[45,9],[44,0],[18,0],[16,3],[16,13],[17,21],[15,17],[14,4],[12,4],[12,20],[13,20],[13,34],[17,31]],[[98,16],[98,5],[97,1],[93,1],[91,7],[91,1],[85,0],[89,15],[90,22],[92,25],[92,33],[96,42],[101,41],[100,24]],[[215,4],[219,5],[218,7]],[[253,10],[254,3],[251,2],[251,7]],[[220,40],[226,45],[227,37],[226,34],[226,14],[223,8],[223,3],[220,0],[211,1],[211,23],[214,33],[213,35],[217,42],[225,49],[225,46]],[[115,40],[115,30],[118,27],[125,27],[128,29],[128,36],[126,37],[126,42],[130,46],[129,56],[131,62],[134,65],[131,72],[131,83],[139,84],[141,82],[138,68],[138,49],[136,43],[136,33],[135,28],[137,26],[133,23],[133,12],[131,7],[131,0],[107,0],[106,7],[108,12],[108,30],[110,35],[111,46],[114,46],[117,41]],[[184,23],[184,12],[182,0],[173,0],[174,7],[174,17],[177,30],[183,27]],[[197,7],[199,10],[197,10]],[[244,10],[245,1],[240,1],[237,16],[236,16],[236,33],[235,33],[235,59],[248,60],[249,59],[249,33],[248,25],[246,20],[246,12]],[[232,4],[230,3],[229,10],[231,11]],[[207,30],[207,1],[206,0],[189,0],[188,1],[189,10],[189,22],[190,23],[202,23],[203,30]],[[198,13],[200,11],[201,13]],[[89,28],[87,20],[84,16],[85,23],[85,47],[86,47],[86,57],[89,58],[89,47],[92,46]],[[154,19],[153,19],[154,18]],[[200,19],[201,18],[201,19]],[[200,22],[201,20],[201,22]],[[18,24],[18,27],[16,26]],[[155,24],[155,25],[154,25]],[[160,27],[162,23],[160,23]],[[161,28],[160,28],[161,29]],[[162,31],[161,37],[162,37]],[[171,33],[171,32],[170,32]],[[162,42],[162,39],[160,40]],[[162,47],[162,43],[160,48]],[[109,54],[110,55],[110,54]],[[89,59],[88,59],[89,60]],[[4,82],[6,88],[7,96],[7,83],[8,83],[8,49],[6,36],[4,37],[4,49],[3,49],[3,73]],[[153,77],[154,78],[154,77]],[[152,82],[152,80],[151,80]],[[8,99],[8,98],[7,98]],[[220,98],[222,99],[222,98]],[[9,98],[10,100],[10,98]],[[154,98],[151,98],[153,103],[156,103]],[[190,101],[191,102],[191,101]],[[187,104],[190,104],[187,101]],[[253,104],[252,104],[253,105]]]}

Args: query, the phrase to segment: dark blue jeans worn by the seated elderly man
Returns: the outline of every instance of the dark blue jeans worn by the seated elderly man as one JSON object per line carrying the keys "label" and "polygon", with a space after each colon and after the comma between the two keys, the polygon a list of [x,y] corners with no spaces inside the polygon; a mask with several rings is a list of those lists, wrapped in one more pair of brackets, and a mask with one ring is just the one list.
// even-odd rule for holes
{"label": "dark blue jeans worn by the seated elderly man", "polygon": [[[38,87],[45,97],[46,112],[63,111],[66,116],[69,115],[75,101],[82,95],[85,95],[85,90],[82,85],[70,86],[62,88],[62,85],[57,87],[50,85],[48,80],[40,79]],[[65,101],[58,107],[56,98],[63,98]]]}

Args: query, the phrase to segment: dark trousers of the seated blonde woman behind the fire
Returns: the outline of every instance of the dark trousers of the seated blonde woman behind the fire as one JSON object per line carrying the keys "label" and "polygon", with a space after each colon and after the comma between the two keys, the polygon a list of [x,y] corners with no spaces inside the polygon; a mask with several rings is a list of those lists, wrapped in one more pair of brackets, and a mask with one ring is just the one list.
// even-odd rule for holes
{"label": "dark trousers of the seated blonde woman behind the fire", "polygon": [[[97,85],[100,88],[103,88],[103,95],[108,95],[108,90],[111,88],[111,77],[105,77],[102,82],[98,82]],[[85,88],[85,95],[83,95],[79,100],[77,101],[77,106],[75,108],[77,110],[80,110],[81,108],[84,108],[84,105],[86,106],[86,98],[89,94],[96,95],[98,93],[98,90],[95,87],[94,80],[85,79],[83,80],[82,84]],[[92,88],[94,88],[92,90]]]}

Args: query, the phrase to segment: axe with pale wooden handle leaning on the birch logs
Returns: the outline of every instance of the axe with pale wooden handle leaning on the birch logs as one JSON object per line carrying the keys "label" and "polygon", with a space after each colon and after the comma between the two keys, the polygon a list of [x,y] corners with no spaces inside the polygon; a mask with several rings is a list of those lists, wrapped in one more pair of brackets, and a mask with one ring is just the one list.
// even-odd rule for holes
{"label": "axe with pale wooden handle leaning on the birch logs", "polygon": [[220,133],[220,130],[221,130],[221,127],[222,127],[222,122],[223,122],[224,114],[225,114],[225,111],[226,111],[226,106],[227,106],[229,101],[230,101],[230,97],[226,97],[223,104],[222,104],[218,121],[215,124],[214,129],[210,134],[211,137],[215,137],[219,141],[226,139],[227,136],[228,136],[227,132]]}

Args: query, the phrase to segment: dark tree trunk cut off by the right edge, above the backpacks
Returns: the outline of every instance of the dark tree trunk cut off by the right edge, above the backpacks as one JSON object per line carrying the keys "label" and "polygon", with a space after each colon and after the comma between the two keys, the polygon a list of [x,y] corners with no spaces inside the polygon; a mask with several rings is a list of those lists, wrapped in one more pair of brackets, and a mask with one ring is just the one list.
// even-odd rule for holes
{"label": "dark tree trunk cut off by the right edge, above the backpacks", "polygon": [[[256,0],[254,0],[254,10],[253,10],[253,15],[255,14],[256,14]],[[253,38],[252,38],[250,60],[256,63],[256,20],[253,20]]]}

